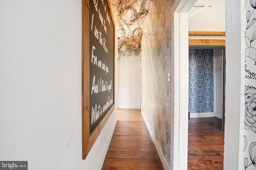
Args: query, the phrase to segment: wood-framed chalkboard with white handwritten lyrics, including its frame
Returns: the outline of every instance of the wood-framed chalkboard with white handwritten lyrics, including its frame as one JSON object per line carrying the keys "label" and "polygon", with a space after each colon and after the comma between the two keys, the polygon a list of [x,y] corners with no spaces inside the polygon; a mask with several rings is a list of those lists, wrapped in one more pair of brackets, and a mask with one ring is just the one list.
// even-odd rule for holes
{"label": "wood-framed chalkboard with white handwritten lyrics, including its frame", "polygon": [[109,0],[82,0],[82,159],[115,108],[114,30]]}

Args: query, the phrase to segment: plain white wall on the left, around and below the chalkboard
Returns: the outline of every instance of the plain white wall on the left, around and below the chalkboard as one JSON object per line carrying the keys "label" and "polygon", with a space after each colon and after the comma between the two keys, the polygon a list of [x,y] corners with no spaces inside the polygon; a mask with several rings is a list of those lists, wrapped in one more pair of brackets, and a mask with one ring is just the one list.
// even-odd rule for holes
{"label": "plain white wall on the left, around and below the chalkboard", "polygon": [[0,1],[0,160],[101,169],[116,110],[82,160],[81,0]]}

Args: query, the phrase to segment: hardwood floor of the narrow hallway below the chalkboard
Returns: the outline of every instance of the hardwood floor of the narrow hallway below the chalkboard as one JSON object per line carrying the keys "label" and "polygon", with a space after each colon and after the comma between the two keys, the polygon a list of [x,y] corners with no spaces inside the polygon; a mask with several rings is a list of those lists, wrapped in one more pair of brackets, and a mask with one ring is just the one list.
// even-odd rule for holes
{"label": "hardwood floor of the narrow hallway below the chalkboard", "polygon": [[140,109],[118,109],[102,170],[164,170]]}

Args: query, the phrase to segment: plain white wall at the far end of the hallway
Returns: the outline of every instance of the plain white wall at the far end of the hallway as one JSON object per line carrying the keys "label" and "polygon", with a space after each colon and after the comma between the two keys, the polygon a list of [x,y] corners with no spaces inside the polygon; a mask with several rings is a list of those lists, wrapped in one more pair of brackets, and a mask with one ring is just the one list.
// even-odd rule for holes
{"label": "plain white wall at the far end of the hallway", "polygon": [[118,108],[140,109],[140,57],[118,60]]}

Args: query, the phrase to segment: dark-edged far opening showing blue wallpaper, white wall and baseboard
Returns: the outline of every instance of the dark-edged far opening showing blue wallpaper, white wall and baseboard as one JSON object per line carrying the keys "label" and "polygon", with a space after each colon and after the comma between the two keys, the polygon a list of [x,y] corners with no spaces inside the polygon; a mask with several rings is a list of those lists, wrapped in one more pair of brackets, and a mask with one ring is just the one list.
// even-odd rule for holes
{"label": "dark-edged far opening showing blue wallpaper, white wall and baseboard", "polygon": [[225,47],[189,46],[189,117],[225,117]]}

